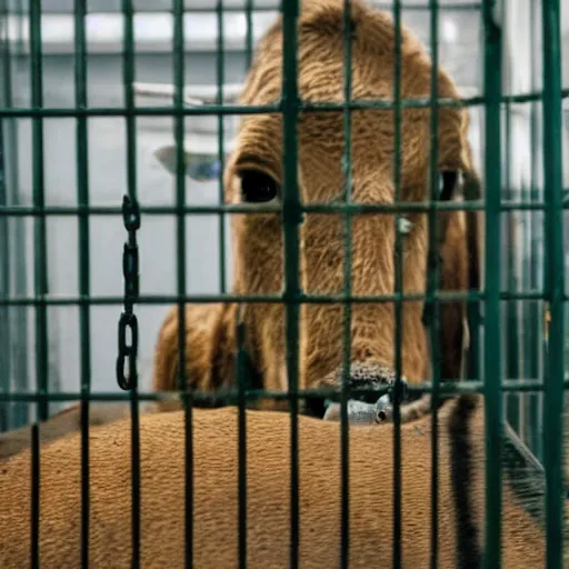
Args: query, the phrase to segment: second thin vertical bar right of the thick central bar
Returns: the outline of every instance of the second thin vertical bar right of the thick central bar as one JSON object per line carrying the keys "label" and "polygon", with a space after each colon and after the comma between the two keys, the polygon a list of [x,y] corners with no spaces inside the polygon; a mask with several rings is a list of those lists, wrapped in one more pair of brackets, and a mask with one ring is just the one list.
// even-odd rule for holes
{"label": "second thin vertical bar right of the thick central bar", "polygon": [[[395,161],[393,187],[395,202],[401,199],[401,0],[393,0],[395,58],[393,58],[393,120],[395,120]],[[395,241],[395,295],[403,292],[402,243],[399,229],[400,212],[396,212]],[[393,568],[401,567],[401,343],[402,303],[400,298],[395,301],[395,397],[393,397]]]}

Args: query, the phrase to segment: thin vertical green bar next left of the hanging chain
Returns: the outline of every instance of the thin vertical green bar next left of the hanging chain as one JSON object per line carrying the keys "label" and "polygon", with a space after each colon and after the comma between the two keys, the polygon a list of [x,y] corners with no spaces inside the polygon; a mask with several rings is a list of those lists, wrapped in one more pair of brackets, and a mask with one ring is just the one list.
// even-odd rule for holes
{"label": "thin vertical green bar next left of the hanging chain", "polygon": [[[87,1],[76,0],[76,108],[87,109]],[[87,118],[77,119],[77,201],[89,207]],[[81,342],[81,567],[89,567],[89,395],[91,392],[89,310],[89,214],[79,212],[79,338]]]}

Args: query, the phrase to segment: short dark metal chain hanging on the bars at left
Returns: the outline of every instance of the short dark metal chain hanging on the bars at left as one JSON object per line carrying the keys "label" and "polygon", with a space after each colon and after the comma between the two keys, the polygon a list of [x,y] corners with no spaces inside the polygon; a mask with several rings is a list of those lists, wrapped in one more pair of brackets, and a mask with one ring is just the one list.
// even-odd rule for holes
{"label": "short dark metal chain hanging on the bars at left", "polygon": [[[122,274],[124,277],[124,310],[119,320],[119,357],[117,358],[117,381],[124,391],[138,385],[137,352],[138,321],[132,311],[139,295],[137,230],[140,228],[140,208],[128,196],[122,198],[122,220],[129,233],[122,251]],[[130,345],[127,343],[130,330]],[[128,365],[128,376],[124,375]]]}

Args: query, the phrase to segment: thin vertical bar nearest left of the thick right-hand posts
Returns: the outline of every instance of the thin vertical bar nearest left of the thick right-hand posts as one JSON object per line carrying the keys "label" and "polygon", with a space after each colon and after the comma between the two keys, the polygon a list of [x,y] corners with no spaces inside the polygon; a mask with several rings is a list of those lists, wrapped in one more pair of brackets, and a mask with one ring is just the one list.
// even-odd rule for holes
{"label": "thin vertical bar nearest left of the thick right-hand posts", "polygon": [[431,150],[430,150],[430,209],[429,209],[429,252],[427,274],[427,326],[430,332],[431,352],[431,569],[437,568],[439,543],[439,421],[437,406],[440,383],[440,307],[435,293],[439,282],[439,250],[437,227],[437,199],[439,184],[439,106],[438,106],[438,68],[439,68],[439,6],[438,0],[430,0],[431,37]]}

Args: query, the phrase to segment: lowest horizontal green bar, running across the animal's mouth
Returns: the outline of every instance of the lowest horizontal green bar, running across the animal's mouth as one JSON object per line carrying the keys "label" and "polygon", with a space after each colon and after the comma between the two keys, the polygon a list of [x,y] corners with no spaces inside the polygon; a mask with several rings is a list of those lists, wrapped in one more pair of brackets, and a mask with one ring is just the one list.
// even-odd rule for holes
{"label": "lowest horizontal green bar, running across the animal's mouth", "polygon": [[[432,391],[432,383],[425,382],[418,385],[410,385],[407,388],[411,393],[430,393]],[[569,389],[569,380],[563,381],[563,390]],[[352,396],[370,396],[377,395],[381,396],[391,390],[391,386],[382,386],[380,388],[349,388],[349,392]],[[515,393],[515,392],[540,392],[543,391],[543,383],[541,381],[530,380],[530,381],[506,381],[500,386],[500,391]],[[482,393],[483,392],[483,383],[481,381],[442,381],[439,386],[439,392],[441,395],[460,395],[460,393]],[[173,401],[178,400],[179,396],[181,396],[181,391],[149,391],[141,392],[139,391],[138,398],[140,401]],[[340,388],[321,388],[321,389],[299,389],[298,397],[301,399],[311,399],[317,397],[331,398],[333,396],[340,395]],[[204,392],[204,391],[194,391],[192,393],[193,400],[196,402],[212,402],[212,401],[222,401],[227,399],[237,398],[238,392],[234,390],[219,390],[216,392]],[[244,392],[244,396],[248,399],[276,399],[276,400],[284,400],[289,398],[288,391],[264,391],[262,389],[248,389]],[[42,400],[49,400],[53,402],[61,401],[79,401],[81,399],[81,393],[72,392],[72,391],[60,391],[57,393],[38,393],[38,392],[7,392],[0,391],[0,401],[1,402],[39,402]],[[120,391],[117,392],[94,392],[92,391],[89,396],[90,401],[93,402],[120,402],[120,401],[130,401],[129,393],[123,393]]]}

